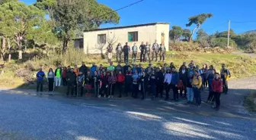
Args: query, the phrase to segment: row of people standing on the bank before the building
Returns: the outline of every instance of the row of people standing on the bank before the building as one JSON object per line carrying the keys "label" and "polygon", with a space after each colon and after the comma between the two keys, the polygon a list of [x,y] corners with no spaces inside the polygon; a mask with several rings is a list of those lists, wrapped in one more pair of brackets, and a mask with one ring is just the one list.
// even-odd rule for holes
{"label": "row of people standing on the bank before the building", "polygon": [[[107,58],[108,61],[112,61],[113,57],[113,46],[108,45],[107,46]],[[133,47],[130,48],[128,45],[128,42],[126,42],[126,45],[122,46],[121,43],[118,43],[116,49],[117,53],[117,62],[121,62],[121,56],[123,54],[123,60],[124,62],[128,62],[129,60],[129,54],[132,54],[132,60],[133,62],[136,62],[137,54],[140,52],[140,62],[146,62],[146,61],[153,61],[155,58],[155,61],[158,61],[158,56],[160,57],[160,61],[165,61],[165,53],[166,48],[165,45],[160,44],[158,45],[157,40],[155,40],[155,43],[153,43],[152,47],[149,45],[149,42],[146,42],[146,45],[144,42],[142,42],[139,47],[137,47],[136,43],[133,44]],[[150,56],[150,54],[152,54]]]}

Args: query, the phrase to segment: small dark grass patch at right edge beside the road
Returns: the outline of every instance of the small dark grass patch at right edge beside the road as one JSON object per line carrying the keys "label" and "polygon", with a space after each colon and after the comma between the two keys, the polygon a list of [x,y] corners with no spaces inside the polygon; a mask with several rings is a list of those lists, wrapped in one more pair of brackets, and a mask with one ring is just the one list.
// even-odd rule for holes
{"label": "small dark grass patch at right edge beside the road", "polygon": [[245,107],[251,112],[256,112],[256,91],[251,91],[245,98]]}

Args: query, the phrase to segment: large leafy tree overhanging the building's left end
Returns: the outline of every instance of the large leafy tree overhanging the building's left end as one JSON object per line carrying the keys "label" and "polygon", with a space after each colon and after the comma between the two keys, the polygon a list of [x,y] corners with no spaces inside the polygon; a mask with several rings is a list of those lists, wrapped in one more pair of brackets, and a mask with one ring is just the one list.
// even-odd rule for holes
{"label": "large leafy tree overhanging the building's left end", "polygon": [[57,0],[53,8],[55,32],[62,39],[62,54],[66,52],[69,41],[75,35],[81,35],[79,32],[98,27],[102,23],[118,23],[119,19],[115,11],[99,5],[95,0]]}

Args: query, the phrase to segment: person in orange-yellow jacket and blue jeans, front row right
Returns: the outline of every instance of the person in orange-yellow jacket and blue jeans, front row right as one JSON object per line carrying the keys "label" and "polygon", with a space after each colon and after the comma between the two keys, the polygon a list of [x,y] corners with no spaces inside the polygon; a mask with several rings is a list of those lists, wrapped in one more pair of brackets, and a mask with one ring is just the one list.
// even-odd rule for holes
{"label": "person in orange-yellow jacket and blue jeans, front row right", "polygon": [[201,91],[200,88],[202,86],[202,77],[198,70],[194,70],[194,78],[192,82],[194,98],[196,99],[197,107],[201,107]]}

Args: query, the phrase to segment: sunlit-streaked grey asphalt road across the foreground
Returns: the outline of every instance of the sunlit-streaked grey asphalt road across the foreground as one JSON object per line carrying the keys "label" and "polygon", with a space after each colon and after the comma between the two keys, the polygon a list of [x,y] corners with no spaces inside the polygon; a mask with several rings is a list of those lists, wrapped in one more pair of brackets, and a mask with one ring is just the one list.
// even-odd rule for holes
{"label": "sunlit-streaked grey asphalt road across the foreground", "polygon": [[256,123],[250,119],[125,107],[120,110],[69,100],[6,94],[0,90],[0,139],[251,140],[256,137]]}

